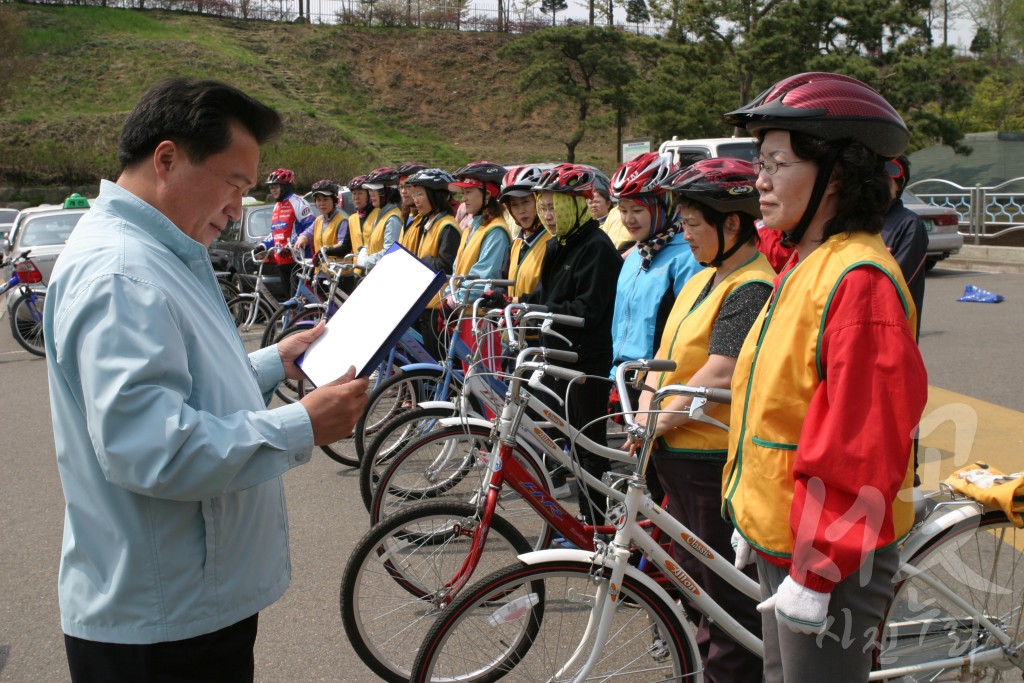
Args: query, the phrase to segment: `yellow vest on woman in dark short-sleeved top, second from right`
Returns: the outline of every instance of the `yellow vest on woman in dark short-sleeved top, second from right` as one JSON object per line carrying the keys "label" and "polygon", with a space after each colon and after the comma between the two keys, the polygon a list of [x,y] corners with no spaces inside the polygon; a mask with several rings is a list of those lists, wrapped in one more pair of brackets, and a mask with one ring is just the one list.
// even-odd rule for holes
{"label": "yellow vest on woman in dark short-sleeved top, second from right", "polygon": [[[676,361],[671,373],[662,373],[655,382],[657,388],[669,384],[687,384],[691,377],[708,362],[708,347],[722,304],[730,294],[751,283],[771,286],[775,271],[761,252],[730,272],[694,308],[708,283],[715,278],[715,268],[706,268],[683,286],[665,324],[662,346],[657,357]],[[707,412],[709,417],[729,424],[729,405],[718,404]],[[689,421],[662,437],[662,444],[670,452],[685,454],[726,455],[728,432],[706,422]]]}

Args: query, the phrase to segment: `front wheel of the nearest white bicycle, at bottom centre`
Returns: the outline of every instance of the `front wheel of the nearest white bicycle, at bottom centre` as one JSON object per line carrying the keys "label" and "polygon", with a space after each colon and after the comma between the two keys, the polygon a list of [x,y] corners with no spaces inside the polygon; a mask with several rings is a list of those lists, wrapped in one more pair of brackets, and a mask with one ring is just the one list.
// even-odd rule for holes
{"label": "front wheel of the nearest white bicycle, at bottom centre", "polygon": [[[575,680],[575,670],[556,674],[578,648],[586,660],[590,648],[581,636],[595,584],[606,590],[610,572],[590,562],[555,560],[519,562],[480,580],[434,622],[410,680]],[[677,681],[700,671],[680,608],[628,574],[612,620],[587,680]]]}

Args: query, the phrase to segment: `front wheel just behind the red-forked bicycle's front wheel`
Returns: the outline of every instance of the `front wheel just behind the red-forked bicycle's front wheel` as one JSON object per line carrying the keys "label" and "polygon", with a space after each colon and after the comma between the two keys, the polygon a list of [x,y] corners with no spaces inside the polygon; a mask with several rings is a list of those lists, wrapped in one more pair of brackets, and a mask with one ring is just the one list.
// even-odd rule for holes
{"label": "front wheel just behind the red-forked bicycle's front wheel", "polygon": [[[432,429],[409,442],[381,474],[370,504],[370,523],[427,500],[475,503],[495,445],[489,428],[457,425]],[[544,465],[518,444],[512,453],[545,492],[550,492]],[[502,516],[516,524],[531,547],[551,545],[554,529],[511,486],[498,503]]]}

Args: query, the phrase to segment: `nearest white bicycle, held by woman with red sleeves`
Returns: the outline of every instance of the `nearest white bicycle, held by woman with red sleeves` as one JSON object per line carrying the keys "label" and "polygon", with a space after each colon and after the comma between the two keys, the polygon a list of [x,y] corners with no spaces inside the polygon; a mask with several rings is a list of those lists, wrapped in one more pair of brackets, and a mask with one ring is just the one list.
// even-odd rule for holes
{"label": "nearest white bicycle, held by woman with red sleeves", "polygon": [[[700,419],[709,398],[723,402],[727,393],[674,385],[655,392],[651,404],[656,410],[668,396],[695,396],[691,417]],[[761,641],[638,524],[642,512],[683,541],[681,547],[697,560],[751,599],[761,599],[757,584],[646,496],[643,473],[656,413],[645,430],[633,422],[628,405],[624,410],[630,433],[644,439],[644,446],[612,541],[597,544],[596,551],[527,553],[465,590],[424,639],[411,680],[702,680],[681,605],[630,565],[634,549],[732,638],[762,653]],[[895,600],[880,627],[869,680],[1000,680],[1008,671],[1019,679],[1022,548],[1024,536],[1005,513],[941,492],[925,497],[921,519],[900,547]]]}

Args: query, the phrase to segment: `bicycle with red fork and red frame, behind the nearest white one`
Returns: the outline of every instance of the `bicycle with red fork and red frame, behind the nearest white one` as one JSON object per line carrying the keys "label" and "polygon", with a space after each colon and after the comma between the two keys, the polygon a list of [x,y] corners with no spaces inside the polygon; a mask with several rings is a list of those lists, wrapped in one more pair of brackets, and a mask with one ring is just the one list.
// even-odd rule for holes
{"label": "bicycle with red fork and red frame, behind the nearest white one", "polygon": [[[349,557],[341,584],[342,624],[354,651],[385,680],[408,680],[412,672],[409,641],[422,638],[434,615],[444,610],[481,567],[485,572],[503,558],[508,559],[509,553],[545,548],[556,531],[589,550],[595,548],[595,533],[614,532],[611,525],[591,526],[578,521],[551,496],[547,470],[539,465],[537,456],[515,439],[506,438],[522,431],[519,426],[525,410],[536,400],[522,389],[528,382],[524,375],[532,373],[537,366],[521,361],[537,353],[545,352],[526,349],[519,355],[499,419],[500,443],[489,423],[484,423],[485,428],[480,423],[467,425],[463,418],[441,420],[447,425],[446,431],[427,437],[436,437],[438,443],[449,439],[479,440],[479,445],[470,449],[474,453],[472,470],[481,475],[474,479],[478,481],[475,496],[469,501],[447,497],[404,508],[371,528]],[[564,353],[547,351],[551,356],[566,357]],[[547,372],[559,371],[547,367]],[[553,426],[570,438],[584,440],[571,426],[554,417]],[[485,449],[492,443],[494,447]],[[590,447],[598,449],[596,444]],[[631,460],[622,451],[603,449],[600,453],[621,462]],[[568,460],[553,441],[546,455]],[[581,483],[586,482],[611,500],[621,502],[625,497],[586,471],[577,475]],[[543,524],[532,543],[521,531],[522,516],[510,525],[506,514],[510,493],[525,501],[528,509],[538,513],[530,518]],[[502,514],[498,514],[499,510]]]}

